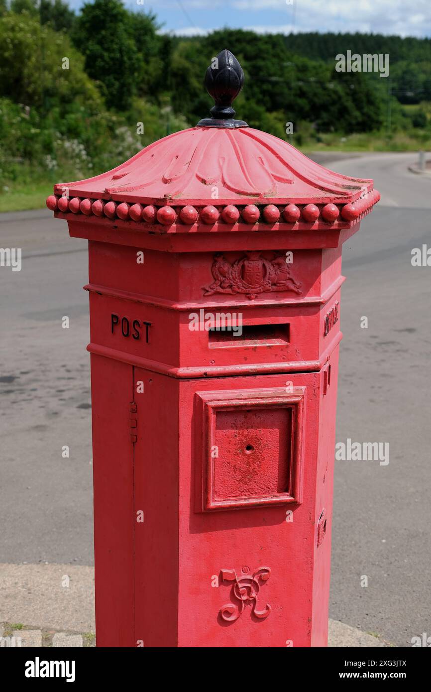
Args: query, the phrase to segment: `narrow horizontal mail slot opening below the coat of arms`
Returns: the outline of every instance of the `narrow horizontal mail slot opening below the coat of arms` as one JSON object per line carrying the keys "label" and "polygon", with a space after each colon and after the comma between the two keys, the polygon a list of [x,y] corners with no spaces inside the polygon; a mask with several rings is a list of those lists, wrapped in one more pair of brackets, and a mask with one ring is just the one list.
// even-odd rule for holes
{"label": "narrow horizontal mail slot opening below the coat of arms", "polygon": [[229,325],[208,330],[210,348],[235,346],[270,346],[289,343],[290,325]]}

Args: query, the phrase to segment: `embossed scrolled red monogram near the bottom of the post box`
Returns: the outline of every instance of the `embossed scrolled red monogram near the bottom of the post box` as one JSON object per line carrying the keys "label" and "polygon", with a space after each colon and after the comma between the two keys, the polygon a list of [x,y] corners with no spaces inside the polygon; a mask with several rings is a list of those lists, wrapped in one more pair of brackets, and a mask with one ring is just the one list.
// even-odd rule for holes
{"label": "embossed scrolled red monogram near the bottom of the post box", "polygon": [[[248,569],[247,567],[245,568]],[[244,569],[243,569],[244,572]],[[257,610],[257,595],[259,594],[260,583],[268,581],[271,576],[269,567],[259,567],[253,574],[237,576],[235,570],[221,570],[223,581],[235,581],[232,585],[230,598],[233,603],[226,603],[220,609],[220,615],[226,622],[235,622],[243,614],[247,605],[251,605],[251,612],[255,617],[264,619],[271,612],[269,603],[266,603],[264,610]],[[237,602],[235,602],[237,601]]]}

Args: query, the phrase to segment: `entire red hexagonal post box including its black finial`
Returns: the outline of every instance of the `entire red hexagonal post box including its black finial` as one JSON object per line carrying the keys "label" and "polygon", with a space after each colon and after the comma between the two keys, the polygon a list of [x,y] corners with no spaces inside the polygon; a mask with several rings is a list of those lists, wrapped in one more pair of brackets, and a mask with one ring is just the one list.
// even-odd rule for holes
{"label": "entire red hexagonal post box including its black finial", "polygon": [[234,120],[217,60],[212,118],[47,201],[89,239],[98,646],[327,644],[341,249],[379,194]]}

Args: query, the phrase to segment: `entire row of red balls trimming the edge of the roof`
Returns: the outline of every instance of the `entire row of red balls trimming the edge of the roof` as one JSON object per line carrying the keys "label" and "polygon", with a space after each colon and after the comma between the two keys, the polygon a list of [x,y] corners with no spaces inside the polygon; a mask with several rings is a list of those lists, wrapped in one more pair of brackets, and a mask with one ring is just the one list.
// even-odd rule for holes
{"label": "entire row of red balls trimming the edge of the roof", "polygon": [[96,217],[108,217],[108,219],[121,219],[122,221],[143,221],[147,224],[161,224],[162,226],[172,226],[174,223],[192,226],[199,221],[205,226],[213,226],[217,221],[232,226],[233,224],[245,223],[256,224],[257,221],[271,225],[276,223],[286,223],[294,226],[295,224],[309,224],[313,226],[316,221],[323,224],[334,224],[336,222],[357,221],[365,212],[374,206],[380,199],[380,193],[372,190],[366,196],[361,197],[355,202],[347,204],[294,204],[286,206],[266,204],[259,207],[255,204],[237,206],[228,204],[227,206],[206,205],[203,207],[184,206],[174,208],[172,206],[156,207],[152,204],[129,204],[127,202],[114,202],[113,200],[104,201],[102,199],[81,199],[80,197],[59,197],[50,194],[46,199],[46,206],[52,211],[62,212],[63,214],[83,214],[84,216],[94,215]]}

